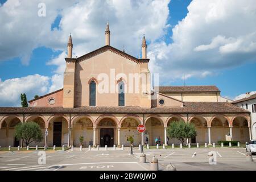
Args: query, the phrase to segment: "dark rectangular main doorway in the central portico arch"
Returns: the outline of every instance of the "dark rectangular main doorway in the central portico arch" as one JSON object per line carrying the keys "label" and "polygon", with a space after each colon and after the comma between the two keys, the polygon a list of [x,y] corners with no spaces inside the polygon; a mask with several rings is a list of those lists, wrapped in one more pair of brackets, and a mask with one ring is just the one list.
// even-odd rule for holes
{"label": "dark rectangular main doorway in the central portico arch", "polygon": [[113,147],[114,145],[114,129],[101,129],[101,147]]}

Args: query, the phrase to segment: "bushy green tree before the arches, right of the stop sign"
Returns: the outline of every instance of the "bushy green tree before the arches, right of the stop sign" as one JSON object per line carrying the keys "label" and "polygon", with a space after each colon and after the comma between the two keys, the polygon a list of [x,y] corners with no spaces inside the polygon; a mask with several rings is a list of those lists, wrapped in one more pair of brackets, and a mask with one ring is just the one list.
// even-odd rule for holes
{"label": "bushy green tree before the arches, right of the stop sign", "polygon": [[167,128],[167,134],[170,138],[180,140],[182,144],[184,144],[186,139],[197,135],[195,125],[193,125],[193,123],[185,123],[183,121],[171,122],[170,126]]}

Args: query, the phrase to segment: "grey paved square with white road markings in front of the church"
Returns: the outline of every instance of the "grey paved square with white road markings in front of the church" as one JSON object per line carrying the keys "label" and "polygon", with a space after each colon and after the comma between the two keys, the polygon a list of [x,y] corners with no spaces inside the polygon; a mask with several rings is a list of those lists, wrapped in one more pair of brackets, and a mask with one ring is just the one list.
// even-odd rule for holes
{"label": "grey paved square with white road markings in front of the church", "polygon": [[[216,151],[217,164],[210,165],[208,152]],[[0,170],[117,170],[117,171],[147,171],[150,170],[150,160],[153,156],[159,160],[159,169],[165,170],[172,163],[180,170],[256,170],[254,162],[246,162],[245,148],[174,148],[174,149],[144,149],[147,163],[139,163],[141,152],[138,147],[130,155],[130,148],[115,150],[100,148],[99,151],[88,148],[74,148],[73,151],[46,151],[46,164],[40,165],[39,151],[0,151]]]}

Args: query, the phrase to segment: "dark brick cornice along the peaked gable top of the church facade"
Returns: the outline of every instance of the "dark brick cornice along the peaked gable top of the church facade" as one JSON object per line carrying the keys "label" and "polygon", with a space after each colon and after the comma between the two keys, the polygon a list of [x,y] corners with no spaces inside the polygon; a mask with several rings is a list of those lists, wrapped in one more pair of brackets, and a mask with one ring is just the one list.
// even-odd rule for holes
{"label": "dark brick cornice along the peaked gable top of the church facade", "polygon": [[101,47],[101,48],[98,48],[92,52],[89,52],[89,53],[86,53],[85,55],[82,55],[80,57],[77,57],[77,58],[65,58],[66,61],[84,61],[84,60],[87,60],[87,59],[90,59],[90,57],[94,57],[94,56],[97,56],[99,55],[100,53],[103,53],[103,52],[106,52],[106,51],[111,51],[111,52],[114,52],[116,53],[117,55],[120,55],[122,57],[125,57],[126,59],[129,59],[131,61],[134,61],[135,63],[148,63],[149,59],[137,59],[136,57],[134,56],[131,56],[123,51],[120,51],[119,49],[117,48],[114,48],[112,46],[104,46],[104,47]]}

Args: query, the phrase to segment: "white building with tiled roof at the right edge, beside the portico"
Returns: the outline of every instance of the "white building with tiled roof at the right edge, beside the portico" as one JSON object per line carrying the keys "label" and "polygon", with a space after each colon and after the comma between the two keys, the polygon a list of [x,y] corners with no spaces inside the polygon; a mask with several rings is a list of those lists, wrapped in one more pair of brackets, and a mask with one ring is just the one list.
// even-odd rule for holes
{"label": "white building with tiled roof at the right edge, beside the portico", "polygon": [[246,97],[232,102],[232,104],[251,112],[251,137],[256,139],[256,94],[246,93]]}

